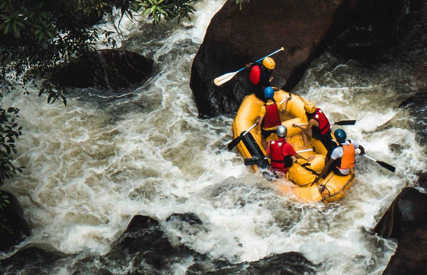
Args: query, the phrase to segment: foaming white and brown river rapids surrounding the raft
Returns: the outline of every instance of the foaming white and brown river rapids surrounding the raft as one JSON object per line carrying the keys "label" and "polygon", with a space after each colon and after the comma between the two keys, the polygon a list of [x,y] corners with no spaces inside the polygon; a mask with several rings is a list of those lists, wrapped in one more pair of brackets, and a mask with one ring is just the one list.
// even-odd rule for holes
{"label": "foaming white and brown river rapids surrounding the raft", "polygon": [[[332,121],[356,119],[345,127],[348,136],[397,170],[358,158],[356,182],[342,200],[293,202],[227,151],[232,117],[197,116],[190,68],[223,2],[200,1],[191,22],[164,24],[152,34],[146,25],[123,22],[126,49],[156,62],[152,78],[135,91],[83,89],[70,95],[66,108],[19,92],[6,97],[6,105],[21,109],[24,127],[17,163],[27,169],[4,186],[18,196],[32,228],[19,247],[50,243],[65,253],[105,254],[135,214],[164,221],[194,212],[207,230],[193,234],[161,224],[213,259],[238,263],[297,251],[321,264],[319,274],[382,273],[396,243],[371,230],[425,167],[425,148],[397,108],[398,76],[342,64],[328,53],[311,64],[294,92]],[[72,271],[67,264],[55,269]]]}

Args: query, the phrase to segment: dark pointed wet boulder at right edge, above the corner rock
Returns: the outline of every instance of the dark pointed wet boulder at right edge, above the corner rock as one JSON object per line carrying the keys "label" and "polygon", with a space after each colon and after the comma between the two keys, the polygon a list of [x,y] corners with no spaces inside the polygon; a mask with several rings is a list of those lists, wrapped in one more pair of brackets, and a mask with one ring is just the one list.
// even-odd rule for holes
{"label": "dark pointed wet boulder at right edge, above the corner rock", "polygon": [[406,232],[427,225],[427,195],[406,187],[384,213],[374,231],[384,238],[401,239]]}

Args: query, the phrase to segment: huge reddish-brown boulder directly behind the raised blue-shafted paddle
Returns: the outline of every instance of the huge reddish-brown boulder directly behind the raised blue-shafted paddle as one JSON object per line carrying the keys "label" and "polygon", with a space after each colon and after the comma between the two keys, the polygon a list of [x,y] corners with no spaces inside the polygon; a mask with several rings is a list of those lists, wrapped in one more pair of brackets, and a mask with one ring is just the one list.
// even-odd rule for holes
{"label": "huge reddish-brown boulder directly behind the raised blue-shafted paddle", "polygon": [[228,0],[212,18],[191,68],[190,87],[199,114],[237,111],[250,94],[249,71],[220,87],[213,79],[274,50],[273,86],[293,88],[310,62],[344,29],[353,7],[362,0],[264,0],[242,6]]}

